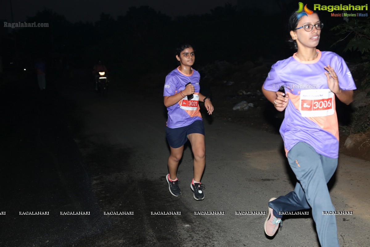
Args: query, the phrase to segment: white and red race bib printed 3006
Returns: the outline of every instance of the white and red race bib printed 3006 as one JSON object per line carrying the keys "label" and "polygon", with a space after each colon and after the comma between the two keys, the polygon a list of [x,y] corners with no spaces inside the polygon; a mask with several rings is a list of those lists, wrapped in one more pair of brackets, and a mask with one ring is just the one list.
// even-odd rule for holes
{"label": "white and red race bib printed 3006", "polygon": [[300,93],[302,117],[323,117],[334,114],[334,93],[330,89],[308,89]]}

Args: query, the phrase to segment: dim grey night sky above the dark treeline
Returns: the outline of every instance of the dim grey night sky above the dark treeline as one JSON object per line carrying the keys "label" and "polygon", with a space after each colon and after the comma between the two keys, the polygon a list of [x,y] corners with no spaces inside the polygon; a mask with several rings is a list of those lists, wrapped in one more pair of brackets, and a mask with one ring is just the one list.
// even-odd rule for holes
{"label": "dim grey night sky above the dark treeline", "polygon": [[37,11],[44,8],[51,9],[57,14],[64,15],[68,21],[91,21],[99,20],[102,12],[117,16],[124,16],[129,7],[150,6],[156,11],[168,16],[186,16],[188,14],[211,13],[210,10],[217,6],[225,6],[225,3],[237,5],[237,0],[4,0],[1,3],[0,19],[11,21],[10,1],[13,6],[14,22],[26,21],[27,16],[34,16]]}

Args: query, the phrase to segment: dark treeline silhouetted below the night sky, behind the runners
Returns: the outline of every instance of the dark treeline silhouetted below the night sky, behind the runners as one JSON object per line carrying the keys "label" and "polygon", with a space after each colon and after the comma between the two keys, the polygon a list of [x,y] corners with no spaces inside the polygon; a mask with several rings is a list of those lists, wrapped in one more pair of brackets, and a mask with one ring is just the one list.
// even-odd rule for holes
{"label": "dark treeline silhouetted below the night sky, behind the runners", "polygon": [[48,23],[49,27],[12,30],[14,39],[9,40],[9,49],[0,47],[0,52],[8,50],[4,61],[19,53],[17,57],[30,60],[61,58],[63,62],[68,60],[66,63],[71,66],[71,60],[80,57],[73,64],[81,68],[90,67],[99,58],[109,67],[123,67],[131,73],[132,70],[148,73],[176,66],[173,50],[182,42],[195,46],[197,67],[216,60],[244,63],[260,56],[285,57],[280,48],[284,46],[283,38],[280,39],[282,32],[269,30],[275,39],[266,39],[266,29],[260,27],[268,26],[270,20],[260,18],[262,15],[257,10],[239,11],[236,6],[225,4],[210,10],[210,14],[171,18],[149,6],[141,6],[130,7],[117,19],[101,13],[95,23],[71,23],[64,16],[45,9],[29,17],[27,22]]}

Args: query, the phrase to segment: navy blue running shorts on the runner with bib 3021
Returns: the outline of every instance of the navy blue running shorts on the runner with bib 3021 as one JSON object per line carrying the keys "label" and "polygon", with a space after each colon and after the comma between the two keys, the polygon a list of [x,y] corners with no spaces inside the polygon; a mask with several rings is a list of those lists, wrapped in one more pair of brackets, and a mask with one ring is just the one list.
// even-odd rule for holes
{"label": "navy blue running shorts on the runner with bib 3021", "polygon": [[204,126],[202,120],[196,120],[188,126],[179,128],[166,127],[166,137],[169,146],[179,148],[188,140],[188,134],[199,133],[204,136]]}

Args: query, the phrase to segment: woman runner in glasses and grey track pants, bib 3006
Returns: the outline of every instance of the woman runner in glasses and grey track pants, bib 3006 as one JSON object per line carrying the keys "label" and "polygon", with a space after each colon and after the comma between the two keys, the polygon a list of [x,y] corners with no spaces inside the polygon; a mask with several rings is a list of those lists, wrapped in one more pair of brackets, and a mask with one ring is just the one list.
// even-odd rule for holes
{"label": "woman runner in glasses and grey track pants, bib 3006", "polygon": [[[312,208],[321,246],[338,247],[335,215],[323,215],[334,211],[327,182],[338,163],[335,97],[350,104],[356,86],[342,57],[316,49],[323,28],[319,16],[298,19],[297,14],[289,19],[290,41],[297,52],[273,64],[262,91],[276,110],[285,110],[280,134],[298,182],[294,191],[270,199],[265,233],[274,236],[281,212]],[[280,86],[285,93],[277,91]]]}

